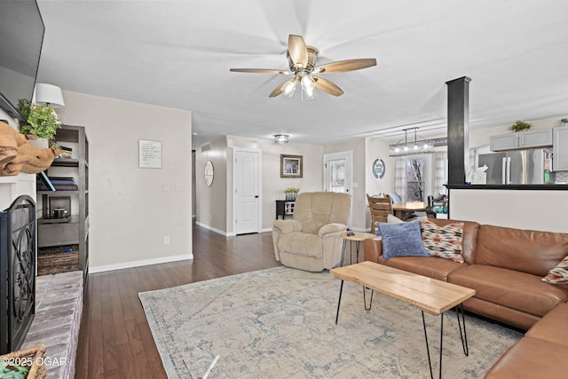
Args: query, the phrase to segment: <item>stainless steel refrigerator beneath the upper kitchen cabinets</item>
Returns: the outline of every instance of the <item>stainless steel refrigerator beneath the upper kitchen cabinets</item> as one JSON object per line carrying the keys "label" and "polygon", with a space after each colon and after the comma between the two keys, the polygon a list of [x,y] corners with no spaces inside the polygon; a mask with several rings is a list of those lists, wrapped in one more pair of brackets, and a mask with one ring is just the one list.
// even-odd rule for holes
{"label": "stainless steel refrigerator beneath the upper kitchen cabinets", "polygon": [[544,185],[550,182],[551,159],[547,149],[514,150],[481,154],[477,167],[487,166],[488,185]]}

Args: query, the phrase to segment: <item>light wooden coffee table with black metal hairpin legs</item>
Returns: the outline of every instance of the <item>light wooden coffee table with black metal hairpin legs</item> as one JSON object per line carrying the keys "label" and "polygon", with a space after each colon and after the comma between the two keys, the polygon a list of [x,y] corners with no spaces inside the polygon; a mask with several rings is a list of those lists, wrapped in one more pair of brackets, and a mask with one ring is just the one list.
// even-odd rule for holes
{"label": "light wooden coffee table with black metal hairpin legs", "polygon": [[[463,302],[476,294],[475,289],[461,287],[442,280],[431,279],[427,276],[418,275],[412,272],[398,270],[387,265],[380,265],[374,262],[362,262],[357,265],[348,265],[331,270],[335,278],[341,279],[339,289],[339,300],[337,301],[337,313],[335,324],[339,317],[339,306],[343,292],[344,280],[352,281],[363,286],[363,302],[368,311],[373,304],[373,291],[378,291],[408,304],[414,305],[422,312],[422,325],[424,328],[424,340],[426,351],[428,352],[428,364],[430,365],[430,377],[432,375],[432,364],[430,361],[430,347],[428,344],[428,333],[426,332],[426,321],[424,312],[435,316],[440,316],[440,363],[439,377],[442,377],[442,346],[444,337],[444,312],[454,308],[458,326],[460,328],[461,346],[463,353],[468,356],[468,336],[465,330],[465,314],[463,312]],[[371,289],[371,299],[367,308],[365,298],[366,288]],[[461,320],[460,320],[461,311]],[[463,333],[461,328],[463,325]]]}

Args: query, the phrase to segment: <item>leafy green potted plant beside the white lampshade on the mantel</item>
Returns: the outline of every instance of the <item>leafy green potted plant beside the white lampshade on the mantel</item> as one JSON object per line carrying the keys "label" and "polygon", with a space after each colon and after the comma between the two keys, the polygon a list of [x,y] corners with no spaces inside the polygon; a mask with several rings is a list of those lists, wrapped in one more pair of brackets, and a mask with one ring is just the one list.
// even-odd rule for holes
{"label": "leafy green potted plant beside the white lampshade on the mantel", "polygon": [[20,99],[18,108],[25,119],[20,122],[20,133],[45,138],[51,147],[55,147],[55,134],[61,126],[61,120],[53,107],[31,104],[27,99]]}

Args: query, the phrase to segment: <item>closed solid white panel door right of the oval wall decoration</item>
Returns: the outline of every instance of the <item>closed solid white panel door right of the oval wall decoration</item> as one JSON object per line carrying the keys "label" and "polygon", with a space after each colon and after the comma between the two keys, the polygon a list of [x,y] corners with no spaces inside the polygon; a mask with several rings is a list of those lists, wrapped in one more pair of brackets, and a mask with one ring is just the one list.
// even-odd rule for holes
{"label": "closed solid white panel door right of the oval wall decoration", "polygon": [[236,234],[260,231],[260,152],[233,149],[234,227]]}

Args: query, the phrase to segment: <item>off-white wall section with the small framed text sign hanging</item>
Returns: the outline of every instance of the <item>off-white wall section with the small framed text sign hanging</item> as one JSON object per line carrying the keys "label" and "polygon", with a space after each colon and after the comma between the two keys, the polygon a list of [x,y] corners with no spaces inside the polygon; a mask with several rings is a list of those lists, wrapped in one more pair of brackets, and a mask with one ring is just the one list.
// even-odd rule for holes
{"label": "off-white wall section with the small framed text sign hanging", "polygon": [[[89,139],[90,271],[192,258],[191,112],[63,96]],[[138,139],[162,141],[162,169],[138,168]]]}

